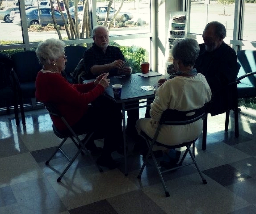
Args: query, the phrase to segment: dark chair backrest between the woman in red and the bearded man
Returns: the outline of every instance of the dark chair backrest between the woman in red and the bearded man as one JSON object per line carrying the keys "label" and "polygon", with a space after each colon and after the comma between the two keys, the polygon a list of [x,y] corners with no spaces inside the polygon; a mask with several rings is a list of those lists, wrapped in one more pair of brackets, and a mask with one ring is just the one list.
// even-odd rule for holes
{"label": "dark chair backrest between the woman in red and the bearded man", "polygon": [[84,46],[71,45],[65,47],[65,55],[67,56],[67,62],[65,67],[65,73],[68,80],[71,82],[72,76],[70,73],[73,73],[78,63],[84,56],[84,52],[87,50]]}

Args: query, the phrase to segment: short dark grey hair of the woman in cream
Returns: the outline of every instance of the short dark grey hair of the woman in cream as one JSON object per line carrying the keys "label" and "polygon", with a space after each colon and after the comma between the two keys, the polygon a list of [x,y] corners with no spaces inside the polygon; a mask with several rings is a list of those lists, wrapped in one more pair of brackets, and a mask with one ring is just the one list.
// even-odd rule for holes
{"label": "short dark grey hair of the woman in cream", "polygon": [[198,42],[195,39],[186,38],[175,40],[173,43],[173,58],[180,60],[184,66],[194,66],[200,51]]}

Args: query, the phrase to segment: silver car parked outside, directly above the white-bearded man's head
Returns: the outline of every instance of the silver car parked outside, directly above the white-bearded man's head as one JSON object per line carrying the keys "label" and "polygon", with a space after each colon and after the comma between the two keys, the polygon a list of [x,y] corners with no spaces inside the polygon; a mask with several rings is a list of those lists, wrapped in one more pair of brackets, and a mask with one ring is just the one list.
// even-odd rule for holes
{"label": "silver car parked outside, directly above the white-bearded man's head", "polygon": [[[106,12],[107,12],[107,9],[108,9],[108,6],[103,6],[103,7],[97,7],[96,9],[96,16],[97,16],[97,21],[105,21],[105,17],[106,17]],[[74,15],[74,10],[75,10],[75,7],[71,7],[69,8],[69,12]],[[83,17],[83,5],[79,5],[77,7],[77,11],[78,11],[78,17],[81,19],[81,17]],[[116,10],[114,8],[110,8],[110,11],[109,11],[109,17],[108,17],[108,20],[110,20],[113,15],[115,14]],[[130,13],[130,12],[122,12],[120,11],[118,14],[117,14],[117,17],[115,18],[116,21],[122,21],[122,22],[125,22],[129,19],[132,19],[133,18],[133,14]]]}

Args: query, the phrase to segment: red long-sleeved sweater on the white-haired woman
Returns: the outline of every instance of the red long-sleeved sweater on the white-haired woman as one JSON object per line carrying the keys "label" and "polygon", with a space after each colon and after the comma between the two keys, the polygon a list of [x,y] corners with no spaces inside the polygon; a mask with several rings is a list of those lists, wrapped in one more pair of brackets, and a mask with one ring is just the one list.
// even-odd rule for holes
{"label": "red long-sleeved sweater on the white-haired woman", "polygon": [[[36,77],[36,99],[53,103],[71,126],[85,114],[88,104],[103,92],[104,87],[100,84],[70,84],[57,73],[39,71]],[[67,129],[60,118],[51,115],[51,119],[57,129]]]}

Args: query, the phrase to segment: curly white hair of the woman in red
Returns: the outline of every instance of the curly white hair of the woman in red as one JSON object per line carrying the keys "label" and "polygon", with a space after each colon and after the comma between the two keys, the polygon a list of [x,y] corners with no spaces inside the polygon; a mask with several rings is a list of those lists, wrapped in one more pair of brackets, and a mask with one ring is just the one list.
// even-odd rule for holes
{"label": "curly white hair of the woman in red", "polygon": [[59,39],[46,39],[40,42],[36,48],[36,56],[40,64],[50,64],[51,60],[57,60],[65,54],[65,43]]}

